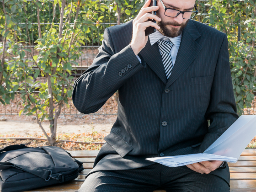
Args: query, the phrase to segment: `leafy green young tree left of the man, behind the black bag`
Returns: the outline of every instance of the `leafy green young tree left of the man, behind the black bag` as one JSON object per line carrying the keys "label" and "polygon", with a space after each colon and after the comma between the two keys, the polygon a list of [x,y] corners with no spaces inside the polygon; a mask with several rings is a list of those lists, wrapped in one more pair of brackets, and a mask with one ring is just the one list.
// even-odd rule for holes
{"label": "leafy green young tree left of the man, behind the black bag", "polygon": [[[76,60],[81,56],[80,43],[84,44],[86,41],[90,41],[88,38],[89,27],[97,29],[93,23],[97,21],[99,12],[106,5],[98,0],[32,0],[24,2],[26,0],[8,2],[6,0],[4,4],[6,9],[3,13],[4,20],[1,20],[1,34],[8,40],[9,47],[5,59],[8,56],[10,60],[8,63],[5,60],[4,67],[1,67],[2,80],[5,81],[5,84],[0,87],[0,101],[3,104],[9,104],[10,99],[14,99],[15,91],[19,91],[24,106],[20,114],[23,112],[27,116],[35,115],[48,142],[53,145],[56,139],[59,114],[64,104],[68,105],[68,99],[72,96],[74,77],[71,76],[71,70],[78,65]],[[31,49],[25,48],[26,44],[32,45],[30,37],[33,36],[30,36],[30,32],[33,31],[29,30],[33,29],[29,22],[31,15],[22,10],[33,7],[39,12],[38,15],[36,14],[37,22],[41,23],[41,12],[48,9],[47,6],[44,6],[45,3],[52,4],[53,15],[56,17],[52,18],[52,21],[58,20],[60,24],[57,26],[50,21],[51,24],[44,30],[41,29],[41,25],[36,25],[38,36],[34,41],[34,50],[37,51],[37,54],[33,55]],[[57,18],[57,16],[59,17]],[[21,20],[25,24],[20,24]],[[18,34],[27,37],[28,41],[18,42]],[[42,82],[38,80],[39,78],[45,78],[46,81]],[[45,120],[49,120],[50,123],[50,137],[42,126],[42,122]]]}

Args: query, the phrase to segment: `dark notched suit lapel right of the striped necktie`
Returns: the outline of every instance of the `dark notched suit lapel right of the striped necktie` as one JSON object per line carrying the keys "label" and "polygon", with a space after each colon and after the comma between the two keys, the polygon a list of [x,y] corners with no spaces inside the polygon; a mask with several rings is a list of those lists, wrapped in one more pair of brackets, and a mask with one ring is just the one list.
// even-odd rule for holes
{"label": "dark notched suit lapel right of the striped necktie", "polygon": [[179,76],[184,73],[184,71],[197,57],[197,54],[202,48],[195,41],[198,37],[200,37],[200,33],[197,31],[193,21],[188,21],[187,26],[182,32],[180,48],[178,50],[171,75],[167,81],[167,84],[165,85],[165,89],[168,88],[177,78],[179,78]]}

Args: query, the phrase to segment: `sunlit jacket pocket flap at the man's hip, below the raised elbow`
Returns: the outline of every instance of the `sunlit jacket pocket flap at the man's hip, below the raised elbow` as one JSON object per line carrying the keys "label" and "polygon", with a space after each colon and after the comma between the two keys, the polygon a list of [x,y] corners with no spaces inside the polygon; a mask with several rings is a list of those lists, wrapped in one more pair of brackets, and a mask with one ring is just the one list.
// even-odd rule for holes
{"label": "sunlit jacket pocket flap at the man's hip, below the raised elbow", "polygon": [[128,154],[133,148],[125,142],[123,139],[121,139],[118,134],[115,131],[111,131],[104,140],[111,145],[113,149],[117,151],[117,153],[124,157],[126,154]]}

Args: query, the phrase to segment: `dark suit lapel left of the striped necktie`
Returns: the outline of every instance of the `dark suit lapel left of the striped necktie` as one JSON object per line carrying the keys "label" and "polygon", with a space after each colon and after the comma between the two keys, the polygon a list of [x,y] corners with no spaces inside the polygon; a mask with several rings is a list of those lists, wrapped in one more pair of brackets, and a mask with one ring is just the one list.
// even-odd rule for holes
{"label": "dark suit lapel left of the striped necktie", "polygon": [[149,38],[145,47],[140,51],[145,62],[149,67],[155,72],[155,74],[166,84],[167,79],[165,75],[165,68],[162,62],[162,57],[159,52],[158,44],[154,43],[152,46],[150,44]]}

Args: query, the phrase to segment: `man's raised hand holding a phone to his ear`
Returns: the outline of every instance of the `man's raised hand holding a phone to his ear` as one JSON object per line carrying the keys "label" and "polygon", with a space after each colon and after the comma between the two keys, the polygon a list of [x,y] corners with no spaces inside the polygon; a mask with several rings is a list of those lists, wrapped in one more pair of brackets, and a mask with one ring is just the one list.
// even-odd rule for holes
{"label": "man's raised hand holding a phone to his ear", "polygon": [[150,2],[151,0],[148,0],[143,5],[142,9],[139,11],[138,16],[136,16],[133,20],[133,38],[130,45],[135,55],[137,55],[145,47],[148,41],[149,37],[145,34],[147,27],[160,29],[160,27],[155,22],[149,20],[151,19],[155,21],[161,21],[158,16],[151,14],[152,11],[157,11],[159,6],[149,6]]}

